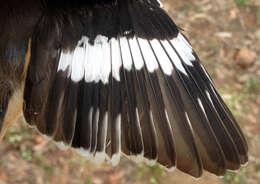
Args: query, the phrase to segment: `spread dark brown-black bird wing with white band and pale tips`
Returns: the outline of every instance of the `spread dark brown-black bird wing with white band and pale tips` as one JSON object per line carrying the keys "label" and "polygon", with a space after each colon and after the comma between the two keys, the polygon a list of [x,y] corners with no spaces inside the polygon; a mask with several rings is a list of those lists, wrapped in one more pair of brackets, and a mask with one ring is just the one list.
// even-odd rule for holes
{"label": "spread dark brown-black bird wing with white band and pale tips", "polygon": [[223,175],[247,162],[236,120],[155,0],[48,1],[32,36],[24,115],[87,159]]}

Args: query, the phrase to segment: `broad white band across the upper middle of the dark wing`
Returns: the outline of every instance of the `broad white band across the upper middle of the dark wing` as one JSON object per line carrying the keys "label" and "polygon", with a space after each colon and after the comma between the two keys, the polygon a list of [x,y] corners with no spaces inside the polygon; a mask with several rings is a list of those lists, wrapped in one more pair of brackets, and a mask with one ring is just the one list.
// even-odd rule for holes
{"label": "broad white band across the upper middle of the dark wing", "polygon": [[61,52],[58,71],[67,71],[74,82],[84,78],[85,82],[107,84],[109,76],[120,81],[121,68],[130,71],[134,66],[144,66],[153,73],[161,68],[166,75],[172,75],[174,68],[188,75],[184,65],[193,66],[196,58],[185,37],[179,33],[172,40],[145,40],[143,38],[119,37],[108,40],[98,35],[92,45],[85,36],[73,52]]}

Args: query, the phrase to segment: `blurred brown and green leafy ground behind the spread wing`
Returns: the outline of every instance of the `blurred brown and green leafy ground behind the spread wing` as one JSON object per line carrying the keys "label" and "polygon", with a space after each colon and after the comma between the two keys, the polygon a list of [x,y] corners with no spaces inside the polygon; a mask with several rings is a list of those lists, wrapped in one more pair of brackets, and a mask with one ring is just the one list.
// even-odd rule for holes
{"label": "blurred brown and green leafy ground behind the spread wing", "polygon": [[96,166],[21,123],[0,143],[0,184],[260,184],[260,0],[162,0],[185,30],[248,139],[249,164],[200,180],[123,160]]}

